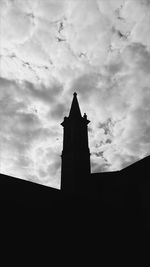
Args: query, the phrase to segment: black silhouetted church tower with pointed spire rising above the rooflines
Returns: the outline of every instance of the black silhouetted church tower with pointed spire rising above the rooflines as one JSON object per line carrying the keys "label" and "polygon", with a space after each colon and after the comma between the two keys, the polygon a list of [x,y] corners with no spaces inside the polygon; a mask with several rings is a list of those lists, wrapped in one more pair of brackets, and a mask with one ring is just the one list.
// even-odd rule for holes
{"label": "black silhouetted church tower with pointed spire rising above the rooflines", "polygon": [[90,182],[90,152],[88,147],[89,120],[82,117],[77,93],[68,117],[61,125],[64,128],[61,190],[66,193],[84,194],[88,192]]}

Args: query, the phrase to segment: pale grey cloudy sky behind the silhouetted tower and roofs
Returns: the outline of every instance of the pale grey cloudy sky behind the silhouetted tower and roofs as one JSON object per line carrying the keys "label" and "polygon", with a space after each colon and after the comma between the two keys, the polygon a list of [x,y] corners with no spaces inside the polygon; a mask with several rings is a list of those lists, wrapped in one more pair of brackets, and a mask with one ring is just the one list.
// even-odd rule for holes
{"label": "pale grey cloudy sky behind the silhouetted tower and roofs", "polygon": [[150,154],[150,0],[0,0],[0,173],[60,187],[73,92],[92,172]]}

